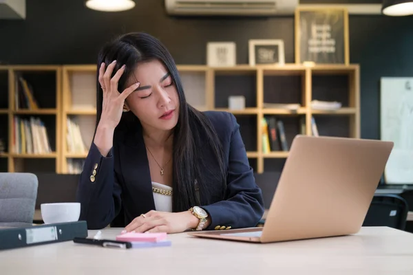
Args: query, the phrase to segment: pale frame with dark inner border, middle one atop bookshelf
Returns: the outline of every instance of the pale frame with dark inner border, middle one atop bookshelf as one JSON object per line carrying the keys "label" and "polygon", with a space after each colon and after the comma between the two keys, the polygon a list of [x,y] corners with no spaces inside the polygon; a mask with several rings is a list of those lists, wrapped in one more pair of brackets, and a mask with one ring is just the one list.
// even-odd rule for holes
{"label": "pale frame with dark inner border, middle one atop bookshelf", "polygon": [[281,39],[249,40],[248,63],[250,66],[284,65],[284,41]]}

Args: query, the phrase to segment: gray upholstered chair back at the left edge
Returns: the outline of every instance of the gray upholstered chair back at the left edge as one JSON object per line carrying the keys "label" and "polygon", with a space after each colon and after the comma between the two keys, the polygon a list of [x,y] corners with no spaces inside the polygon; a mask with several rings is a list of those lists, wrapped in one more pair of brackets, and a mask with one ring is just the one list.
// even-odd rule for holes
{"label": "gray upholstered chair back at the left edge", "polygon": [[0,226],[33,223],[38,185],[32,173],[0,173]]}

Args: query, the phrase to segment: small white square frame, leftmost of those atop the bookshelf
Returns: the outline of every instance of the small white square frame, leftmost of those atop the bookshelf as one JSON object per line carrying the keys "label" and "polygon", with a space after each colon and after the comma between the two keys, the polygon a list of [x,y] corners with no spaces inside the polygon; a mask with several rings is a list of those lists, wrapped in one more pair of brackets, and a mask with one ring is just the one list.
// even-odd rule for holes
{"label": "small white square frame, leftmost of those atop the bookshelf", "polygon": [[235,42],[207,43],[207,65],[210,67],[233,67],[236,65]]}

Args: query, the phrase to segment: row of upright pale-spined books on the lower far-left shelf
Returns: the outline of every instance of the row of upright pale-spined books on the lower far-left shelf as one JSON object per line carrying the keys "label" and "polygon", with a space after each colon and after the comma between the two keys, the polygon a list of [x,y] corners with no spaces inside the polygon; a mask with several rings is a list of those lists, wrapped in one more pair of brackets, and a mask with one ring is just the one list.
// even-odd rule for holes
{"label": "row of upright pale-spined books on the lower far-left shelf", "polygon": [[52,153],[47,129],[40,118],[14,117],[13,149],[17,154]]}

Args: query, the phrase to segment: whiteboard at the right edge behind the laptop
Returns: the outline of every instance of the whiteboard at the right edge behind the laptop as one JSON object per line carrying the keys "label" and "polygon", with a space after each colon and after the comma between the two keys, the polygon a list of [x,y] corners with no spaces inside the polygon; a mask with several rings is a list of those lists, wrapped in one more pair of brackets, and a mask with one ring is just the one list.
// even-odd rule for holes
{"label": "whiteboard at the right edge behind the laptop", "polygon": [[394,142],[387,184],[413,184],[413,78],[381,78],[381,140]]}

